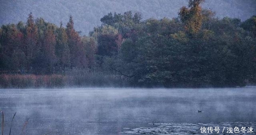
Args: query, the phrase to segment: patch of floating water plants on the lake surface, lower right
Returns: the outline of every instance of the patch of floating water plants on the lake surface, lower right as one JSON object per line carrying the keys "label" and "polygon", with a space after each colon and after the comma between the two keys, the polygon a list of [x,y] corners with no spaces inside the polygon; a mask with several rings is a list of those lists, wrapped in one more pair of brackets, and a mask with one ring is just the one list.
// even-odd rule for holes
{"label": "patch of floating water plants on the lake surface, lower right", "polygon": [[[208,127],[219,127],[220,133],[224,135],[227,133],[227,127],[256,127],[256,122],[221,122],[221,123],[148,123],[149,127],[123,128],[121,133],[128,134],[157,134],[157,135],[213,135],[216,132],[208,133]],[[153,126],[153,127],[152,127]],[[200,128],[206,127],[206,133],[201,133]],[[223,128],[225,127],[224,131]],[[223,131],[223,133],[222,133]],[[233,131],[234,132],[234,131]],[[246,132],[247,133],[247,132]],[[236,134],[244,134],[242,132]],[[255,132],[249,133],[255,135]]]}

